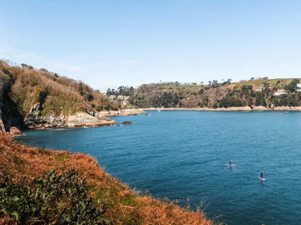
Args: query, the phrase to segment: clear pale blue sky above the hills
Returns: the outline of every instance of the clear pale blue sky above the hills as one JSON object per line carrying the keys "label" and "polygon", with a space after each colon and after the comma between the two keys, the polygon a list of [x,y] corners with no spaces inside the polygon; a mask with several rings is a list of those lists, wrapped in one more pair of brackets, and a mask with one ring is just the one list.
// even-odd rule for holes
{"label": "clear pale blue sky above the hills", "polygon": [[301,1],[0,0],[0,58],[94,89],[301,77]]}

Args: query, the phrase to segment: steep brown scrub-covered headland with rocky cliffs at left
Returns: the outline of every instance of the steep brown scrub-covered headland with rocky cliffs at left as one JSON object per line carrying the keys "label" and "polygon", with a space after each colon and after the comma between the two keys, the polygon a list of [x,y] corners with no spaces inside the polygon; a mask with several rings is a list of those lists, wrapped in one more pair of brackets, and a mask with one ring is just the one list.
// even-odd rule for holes
{"label": "steep brown scrub-covered headland with rocky cliffs at left", "polygon": [[[10,66],[0,61],[0,131],[11,127],[104,126],[114,121],[99,117],[102,110],[117,110],[119,103],[104,97],[82,81],[47,69]],[[96,116],[95,116],[96,115]]]}

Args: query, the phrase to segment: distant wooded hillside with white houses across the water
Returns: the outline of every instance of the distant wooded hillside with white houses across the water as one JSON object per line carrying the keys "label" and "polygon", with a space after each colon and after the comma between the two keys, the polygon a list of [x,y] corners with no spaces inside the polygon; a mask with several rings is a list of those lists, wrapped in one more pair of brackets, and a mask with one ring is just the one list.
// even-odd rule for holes
{"label": "distant wooded hillside with white houses across the water", "polygon": [[252,80],[228,85],[212,83],[202,89],[152,83],[135,89],[130,103],[140,108],[298,107],[301,106],[299,82],[299,79]]}

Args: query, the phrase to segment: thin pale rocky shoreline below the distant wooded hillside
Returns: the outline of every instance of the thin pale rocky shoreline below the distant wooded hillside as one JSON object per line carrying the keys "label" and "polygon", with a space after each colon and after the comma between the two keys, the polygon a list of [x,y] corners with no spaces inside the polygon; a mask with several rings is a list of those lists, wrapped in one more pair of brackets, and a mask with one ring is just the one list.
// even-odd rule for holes
{"label": "thin pale rocky shoreline below the distant wooded hillside", "polygon": [[229,108],[144,108],[142,110],[191,110],[191,111],[301,111],[301,107],[281,106],[274,108],[266,108],[263,106],[245,107],[229,107]]}

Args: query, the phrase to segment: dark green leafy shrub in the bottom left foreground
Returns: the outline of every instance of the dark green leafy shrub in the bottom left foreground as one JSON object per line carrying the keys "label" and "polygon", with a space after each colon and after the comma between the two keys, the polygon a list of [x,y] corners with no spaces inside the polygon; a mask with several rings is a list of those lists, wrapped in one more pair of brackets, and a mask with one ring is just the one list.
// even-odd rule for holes
{"label": "dark green leafy shrub in the bottom left foreground", "polygon": [[51,170],[30,187],[0,183],[0,221],[7,224],[105,224],[104,204],[93,206],[86,181],[74,170],[58,175]]}

